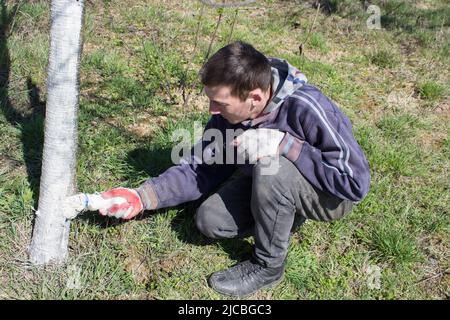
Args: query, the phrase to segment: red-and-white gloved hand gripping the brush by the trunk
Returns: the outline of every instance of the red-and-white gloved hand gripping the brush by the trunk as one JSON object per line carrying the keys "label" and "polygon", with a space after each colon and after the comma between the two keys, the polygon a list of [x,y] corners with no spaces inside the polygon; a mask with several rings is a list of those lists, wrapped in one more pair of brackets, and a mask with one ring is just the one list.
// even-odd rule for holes
{"label": "red-and-white gloved hand gripping the brush by the trunk", "polygon": [[[103,192],[102,198],[112,200],[112,205],[99,209],[101,215],[129,220],[144,209],[141,198],[136,190],[114,188]],[[117,201],[116,201],[117,200]]]}

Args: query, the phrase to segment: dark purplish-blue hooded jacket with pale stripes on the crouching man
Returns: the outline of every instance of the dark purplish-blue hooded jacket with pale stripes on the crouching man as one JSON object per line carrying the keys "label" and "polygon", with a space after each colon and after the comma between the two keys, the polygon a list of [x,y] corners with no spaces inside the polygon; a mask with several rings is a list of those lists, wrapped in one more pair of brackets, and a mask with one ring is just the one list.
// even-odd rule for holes
{"label": "dark purplish-blue hooded jacket with pale stripes on the crouching man", "polygon": [[[359,202],[368,192],[370,171],[349,119],[319,89],[307,84],[305,76],[295,67],[281,59],[270,61],[274,93],[263,115],[237,125],[214,115],[205,130],[218,129],[224,137],[226,129],[268,128],[285,132],[280,144],[282,155],[314,187]],[[203,141],[202,148],[210,144],[211,141]],[[194,155],[190,160],[170,167],[136,189],[146,209],[196,200],[238,168],[252,173],[251,164],[206,164]]]}

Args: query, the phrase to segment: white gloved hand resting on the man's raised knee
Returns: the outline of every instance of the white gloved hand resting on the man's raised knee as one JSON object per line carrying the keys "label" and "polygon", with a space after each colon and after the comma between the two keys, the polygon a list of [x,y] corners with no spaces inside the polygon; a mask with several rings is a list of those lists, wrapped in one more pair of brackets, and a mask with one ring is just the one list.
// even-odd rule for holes
{"label": "white gloved hand resting on the man's raised knee", "polygon": [[250,163],[256,163],[262,157],[278,154],[278,147],[285,133],[276,129],[249,129],[233,140],[238,153]]}

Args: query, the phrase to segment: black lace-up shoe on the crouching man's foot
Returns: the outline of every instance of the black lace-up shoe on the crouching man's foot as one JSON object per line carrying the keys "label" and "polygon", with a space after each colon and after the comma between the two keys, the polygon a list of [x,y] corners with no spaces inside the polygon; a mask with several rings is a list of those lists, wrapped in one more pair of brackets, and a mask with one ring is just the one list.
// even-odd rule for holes
{"label": "black lace-up shoe on the crouching man's foot", "polygon": [[244,297],[256,291],[278,284],[284,274],[284,264],[280,267],[263,267],[250,260],[234,267],[215,272],[209,277],[209,285],[219,293]]}

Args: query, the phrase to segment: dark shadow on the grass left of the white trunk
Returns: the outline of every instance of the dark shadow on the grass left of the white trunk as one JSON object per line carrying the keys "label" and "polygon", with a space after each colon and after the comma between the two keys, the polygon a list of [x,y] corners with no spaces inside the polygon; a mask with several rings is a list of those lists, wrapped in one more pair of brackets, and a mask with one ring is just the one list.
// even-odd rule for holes
{"label": "dark shadow on the grass left of the white trunk", "polygon": [[34,206],[39,196],[42,149],[44,143],[45,102],[41,101],[40,89],[30,77],[27,79],[28,106],[14,106],[10,100],[11,58],[8,48],[9,28],[17,12],[18,4],[8,10],[1,2],[0,13],[0,110],[7,121],[20,130],[23,159],[27,179],[34,195]]}

